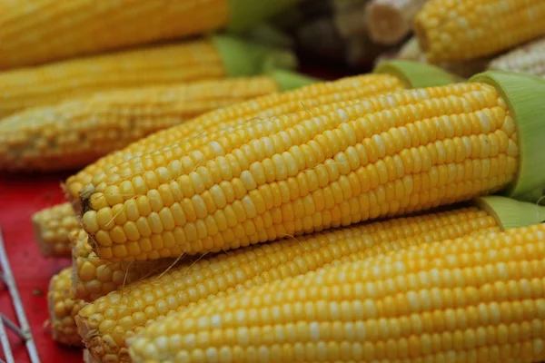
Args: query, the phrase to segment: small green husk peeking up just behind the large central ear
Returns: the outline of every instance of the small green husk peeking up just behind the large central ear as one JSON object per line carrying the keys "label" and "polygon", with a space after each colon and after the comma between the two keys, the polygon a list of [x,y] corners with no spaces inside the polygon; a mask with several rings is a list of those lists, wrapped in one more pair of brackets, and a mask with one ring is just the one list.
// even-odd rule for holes
{"label": "small green husk peeking up just behind the large central ear", "polygon": [[435,87],[464,81],[458,75],[435,65],[403,60],[382,61],[375,66],[373,73],[395,75],[408,88]]}

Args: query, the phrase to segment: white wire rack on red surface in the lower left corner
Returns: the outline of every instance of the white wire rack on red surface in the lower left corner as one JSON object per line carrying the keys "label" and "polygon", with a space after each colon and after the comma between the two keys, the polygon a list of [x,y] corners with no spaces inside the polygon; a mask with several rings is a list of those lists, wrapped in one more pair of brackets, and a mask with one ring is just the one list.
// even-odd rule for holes
{"label": "white wire rack on red surface in the lower left corner", "polygon": [[32,363],[40,363],[40,358],[38,358],[38,351],[35,346],[35,340],[32,336],[30,325],[28,325],[28,320],[26,319],[25,308],[23,307],[23,302],[21,301],[19,290],[15,285],[14,274],[11,270],[9,260],[7,258],[7,253],[5,253],[2,230],[0,230],[0,281],[4,284],[2,288],[7,289],[7,291],[9,292],[18,322],[17,325],[14,321],[8,319],[5,316],[4,312],[0,311],[0,345],[2,345],[2,350],[4,351],[5,358],[5,360],[3,360],[2,355],[0,355],[0,362],[15,363],[12,348],[7,338],[6,329],[10,329],[19,338],[25,341],[26,351],[28,352],[28,357],[30,358],[30,361]]}

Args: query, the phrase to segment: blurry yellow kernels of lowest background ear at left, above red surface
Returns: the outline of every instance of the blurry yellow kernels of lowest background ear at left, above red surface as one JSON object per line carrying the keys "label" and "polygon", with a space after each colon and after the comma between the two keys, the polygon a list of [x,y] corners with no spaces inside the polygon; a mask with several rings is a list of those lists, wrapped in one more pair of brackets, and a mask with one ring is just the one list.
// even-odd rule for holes
{"label": "blurry yellow kernels of lowest background ear at left, above red surface", "polygon": [[0,120],[0,170],[82,167],[145,135],[279,91],[269,76],[96,93]]}

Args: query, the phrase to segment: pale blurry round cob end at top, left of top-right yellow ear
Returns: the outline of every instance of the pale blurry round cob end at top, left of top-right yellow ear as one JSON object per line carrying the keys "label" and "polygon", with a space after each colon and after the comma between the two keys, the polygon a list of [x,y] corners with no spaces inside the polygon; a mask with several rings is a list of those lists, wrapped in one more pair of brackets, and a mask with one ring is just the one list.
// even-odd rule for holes
{"label": "pale blurry round cob end at top, left of top-right yellow ear", "polygon": [[412,19],[427,0],[371,0],[365,9],[369,35],[374,42],[398,44],[411,32]]}

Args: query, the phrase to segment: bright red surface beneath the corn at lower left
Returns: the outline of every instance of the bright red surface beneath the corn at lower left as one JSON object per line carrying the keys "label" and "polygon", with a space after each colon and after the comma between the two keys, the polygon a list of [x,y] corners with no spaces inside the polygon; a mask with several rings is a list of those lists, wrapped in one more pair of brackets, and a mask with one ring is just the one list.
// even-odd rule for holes
{"label": "bright red surface beneath the corn at lower left", "polygon": [[[45,259],[34,240],[30,218],[35,211],[64,201],[60,182],[68,174],[2,175],[0,176],[0,228],[15,283],[19,289],[26,318],[31,325],[36,348],[42,362],[81,362],[82,349],[65,348],[54,343],[47,321],[47,286],[51,277],[66,266],[70,259]],[[1,284],[1,283],[0,283]],[[7,289],[0,289],[0,310],[16,321]],[[29,362],[25,345],[10,333],[15,362]],[[5,358],[0,348],[0,358]]]}

